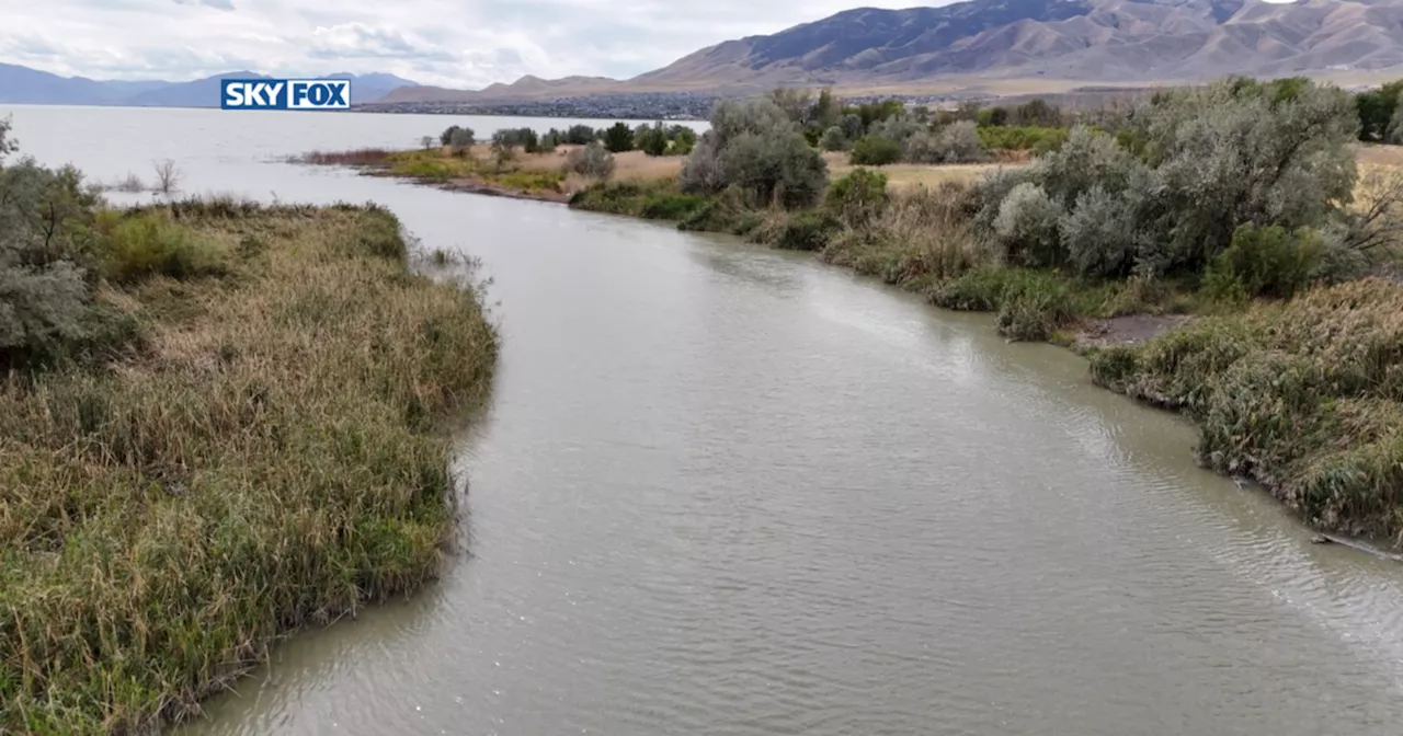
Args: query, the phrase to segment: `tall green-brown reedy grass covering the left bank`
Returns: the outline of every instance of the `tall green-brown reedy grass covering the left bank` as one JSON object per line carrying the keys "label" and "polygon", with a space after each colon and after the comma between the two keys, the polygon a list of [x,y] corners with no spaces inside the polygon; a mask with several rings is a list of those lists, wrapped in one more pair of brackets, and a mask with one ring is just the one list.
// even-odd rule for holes
{"label": "tall green-brown reedy grass covering the left bank", "polygon": [[412,273],[384,210],[104,217],[101,301],[142,339],[0,380],[0,732],[153,730],[431,579],[495,364],[478,294]]}

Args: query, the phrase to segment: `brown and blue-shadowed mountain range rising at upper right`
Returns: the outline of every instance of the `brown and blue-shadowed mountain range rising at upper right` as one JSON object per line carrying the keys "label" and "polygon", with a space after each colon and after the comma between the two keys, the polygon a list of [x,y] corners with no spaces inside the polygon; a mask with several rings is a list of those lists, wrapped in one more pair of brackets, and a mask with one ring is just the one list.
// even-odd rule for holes
{"label": "brown and blue-shadowed mountain range rising at upper right", "polygon": [[629,80],[526,77],[478,91],[415,87],[382,102],[776,86],[918,88],[940,80],[992,87],[999,80],[1183,83],[1228,73],[1348,77],[1395,67],[1403,67],[1403,0],[971,0],[846,10],[707,46]]}

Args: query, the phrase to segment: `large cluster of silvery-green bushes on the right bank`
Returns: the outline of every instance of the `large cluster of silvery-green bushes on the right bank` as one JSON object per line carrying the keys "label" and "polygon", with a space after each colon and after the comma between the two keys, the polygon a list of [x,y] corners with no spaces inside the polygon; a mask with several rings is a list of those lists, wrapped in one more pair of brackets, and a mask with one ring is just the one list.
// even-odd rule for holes
{"label": "large cluster of silvery-green bushes on the right bank", "polygon": [[1301,262],[1291,285],[1247,279],[1247,296],[1354,269],[1347,93],[1230,79],[1160,94],[1124,125],[1128,135],[1076,126],[1059,150],[979,182],[972,220],[1003,259],[1099,278],[1202,273],[1236,240]]}

